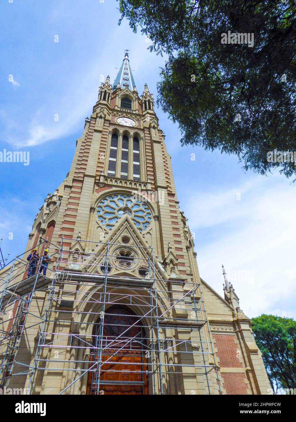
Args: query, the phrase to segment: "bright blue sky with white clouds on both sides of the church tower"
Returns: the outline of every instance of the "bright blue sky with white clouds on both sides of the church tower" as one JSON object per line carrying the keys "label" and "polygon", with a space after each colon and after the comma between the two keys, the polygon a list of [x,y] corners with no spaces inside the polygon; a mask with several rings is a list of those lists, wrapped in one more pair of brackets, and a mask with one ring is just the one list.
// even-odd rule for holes
{"label": "bright blue sky with white clouds on both sides of the church tower", "polygon": [[[114,81],[125,49],[139,94],[147,83],[157,95],[164,58],[127,21],[118,26],[117,7],[114,0],[1,1],[0,151],[30,151],[30,165],[0,163],[1,248],[10,258],[24,251],[38,209],[70,169],[100,78]],[[201,277],[223,295],[224,264],[249,317],[295,318],[296,186],[278,173],[244,173],[236,156],[182,148],[177,124],[157,115]]]}

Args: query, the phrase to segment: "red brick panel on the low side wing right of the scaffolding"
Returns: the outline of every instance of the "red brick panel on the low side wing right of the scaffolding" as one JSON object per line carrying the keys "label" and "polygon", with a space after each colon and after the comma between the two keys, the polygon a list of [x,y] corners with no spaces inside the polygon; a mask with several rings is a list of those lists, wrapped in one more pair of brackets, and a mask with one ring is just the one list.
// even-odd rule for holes
{"label": "red brick panel on the low side wing right of the scaffolding", "polygon": [[223,373],[223,368],[243,368],[242,363],[239,362],[241,352],[235,344],[235,336],[231,334],[212,334],[212,336],[215,339],[218,364],[221,367],[226,394],[247,394],[244,373]]}

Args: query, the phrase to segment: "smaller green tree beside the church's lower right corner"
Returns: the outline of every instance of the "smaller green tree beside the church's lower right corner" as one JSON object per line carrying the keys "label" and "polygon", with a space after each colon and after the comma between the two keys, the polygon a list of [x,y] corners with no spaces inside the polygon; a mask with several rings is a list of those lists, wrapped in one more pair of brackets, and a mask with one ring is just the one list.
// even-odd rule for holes
{"label": "smaller green tree beside the church's lower right corner", "polygon": [[251,321],[272,388],[296,388],[296,321],[264,314]]}

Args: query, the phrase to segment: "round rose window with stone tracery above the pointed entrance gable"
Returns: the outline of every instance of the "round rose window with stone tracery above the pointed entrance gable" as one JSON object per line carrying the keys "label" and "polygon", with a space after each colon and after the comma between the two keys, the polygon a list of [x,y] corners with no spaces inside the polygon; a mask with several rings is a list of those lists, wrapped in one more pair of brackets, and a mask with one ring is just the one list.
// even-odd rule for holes
{"label": "round rose window with stone tracery above the pointed entrance gable", "polygon": [[152,214],[145,203],[134,200],[132,195],[109,195],[100,200],[97,206],[98,220],[111,229],[119,218],[128,214],[140,232],[146,230],[152,222]]}

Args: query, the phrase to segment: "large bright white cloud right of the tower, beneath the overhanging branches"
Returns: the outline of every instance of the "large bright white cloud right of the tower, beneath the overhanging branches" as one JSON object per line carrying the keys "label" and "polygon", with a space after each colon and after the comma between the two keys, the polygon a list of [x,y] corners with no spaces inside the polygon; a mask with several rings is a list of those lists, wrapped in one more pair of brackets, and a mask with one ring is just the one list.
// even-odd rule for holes
{"label": "large bright white cloud right of the tower, beneath the overhanging branches", "polygon": [[[244,192],[240,201],[236,191]],[[223,296],[224,264],[248,316],[296,316],[295,187],[282,176],[254,176],[225,193],[191,197],[186,209],[207,283]],[[209,241],[201,242],[200,230],[209,231]]]}

